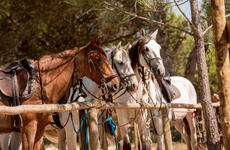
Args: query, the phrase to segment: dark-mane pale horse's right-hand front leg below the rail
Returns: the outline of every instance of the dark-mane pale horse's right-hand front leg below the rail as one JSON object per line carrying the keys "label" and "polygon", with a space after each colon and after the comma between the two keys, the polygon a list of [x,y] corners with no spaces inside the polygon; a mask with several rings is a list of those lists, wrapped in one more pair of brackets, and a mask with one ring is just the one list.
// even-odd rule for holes
{"label": "dark-mane pale horse's right-hand front leg below the rail", "polygon": [[141,138],[140,142],[141,142],[141,145],[142,145],[142,149],[143,150],[150,150],[151,149],[151,145],[150,145],[150,142],[149,142],[150,137],[149,137],[149,134],[147,132],[144,115],[140,115],[138,117],[137,125],[138,125],[138,131],[139,131],[140,138]]}

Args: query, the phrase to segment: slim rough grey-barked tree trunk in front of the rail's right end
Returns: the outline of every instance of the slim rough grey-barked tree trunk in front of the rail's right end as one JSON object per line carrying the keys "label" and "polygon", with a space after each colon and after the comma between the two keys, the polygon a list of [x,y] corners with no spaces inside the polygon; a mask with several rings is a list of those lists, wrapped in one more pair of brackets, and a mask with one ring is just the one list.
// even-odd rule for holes
{"label": "slim rough grey-barked tree trunk in front of the rail's right end", "polygon": [[207,64],[204,50],[204,37],[202,34],[197,0],[190,0],[192,24],[197,29],[194,32],[195,50],[197,56],[198,76],[200,82],[200,98],[203,107],[205,128],[207,131],[207,145],[209,150],[221,150],[220,137],[217,129],[217,121],[212,107],[211,93],[208,80]]}

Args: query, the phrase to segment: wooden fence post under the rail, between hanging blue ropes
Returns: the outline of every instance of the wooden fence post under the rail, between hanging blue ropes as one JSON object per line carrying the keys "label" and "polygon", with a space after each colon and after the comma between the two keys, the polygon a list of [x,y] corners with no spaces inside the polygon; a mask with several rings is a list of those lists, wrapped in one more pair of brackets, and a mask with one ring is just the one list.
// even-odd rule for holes
{"label": "wooden fence post under the rail, between hanging blue ropes", "polygon": [[89,135],[90,135],[90,147],[91,149],[99,150],[99,135],[98,135],[98,122],[97,122],[97,110],[95,108],[91,109],[91,114],[89,118]]}

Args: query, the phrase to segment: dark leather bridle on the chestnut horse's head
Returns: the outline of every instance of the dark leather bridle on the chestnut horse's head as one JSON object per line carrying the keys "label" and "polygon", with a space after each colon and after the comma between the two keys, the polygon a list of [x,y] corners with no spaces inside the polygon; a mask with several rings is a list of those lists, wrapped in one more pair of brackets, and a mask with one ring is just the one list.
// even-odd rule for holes
{"label": "dark leather bridle on the chestnut horse's head", "polygon": [[[108,82],[110,82],[113,78],[117,77],[117,74],[116,73],[113,73],[111,75],[108,75],[107,77],[104,77],[103,74],[99,71],[99,69],[97,68],[97,66],[94,64],[92,58],[91,58],[91,54],[93,53],[102,53],[103,56],[106,57],[106,55],[104,54],[104,52],[102,51],[91,51],[89,52],[87,47],[85,47],[85,52],[87,54],[87,58],[88,58],[88,64],[89,64],[89,71],[90,71],[90,75],[91,75],[91,79],[92,79],[92,70],[91,70],[91,66],[93,66],[93,69],[98,73],[98,75],[100,76],[101,78],[101,82],[100,82],[100,85],[99,87],[104,89],[106,92],[108,92],[108,88],[107,88],[107,84]],[[81,85],[82,85],[82,81],[79,79],[79,68],[78,68],[78,63],[77,63],[77,55],[79,53],[79,50],[76,51],[75,53],[75,56],[74,56],[74,72],[73,72],[73,77],[74,77],[74,74],[76,73],[76,78],[77,78],[77,82],[76,84],[74,85],[73,84],[73,80],[72,80],[72,85],[73,87],[76,87],[75,90],[79,90],[79,95],[80,96],[83,96],[83,97],[86,97],[87,95],[85,94],[85,92],[82,90],[81,88]]]}

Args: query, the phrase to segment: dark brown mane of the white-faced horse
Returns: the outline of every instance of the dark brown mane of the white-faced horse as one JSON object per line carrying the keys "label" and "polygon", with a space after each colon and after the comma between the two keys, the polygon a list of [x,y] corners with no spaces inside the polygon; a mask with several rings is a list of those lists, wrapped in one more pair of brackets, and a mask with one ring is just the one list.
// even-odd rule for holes
{"label": "dark brown mane of the white-faced horse", "polygon": [[133,70],[136,69],[137,64],[139,63],[139,56],[142,53],[144,46],[152,40],[150,35],[146,35],[142,38],[139,38],[137,41],[133,42],[132,47],[129,49],[129,57],[132,60],[131,65]]}

